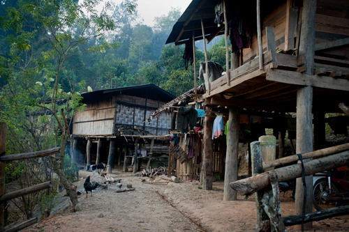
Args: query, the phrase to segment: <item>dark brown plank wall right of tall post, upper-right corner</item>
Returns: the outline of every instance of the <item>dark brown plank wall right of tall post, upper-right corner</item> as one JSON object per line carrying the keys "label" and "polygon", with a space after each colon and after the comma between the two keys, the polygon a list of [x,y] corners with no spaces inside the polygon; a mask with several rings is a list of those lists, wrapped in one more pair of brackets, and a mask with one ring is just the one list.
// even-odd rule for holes
{"label": "dark brown plank wall right of tall post, upper-right corner", "polygon": [[[349,38],[349,1],[318,0],[315,20],[315,43]],[[317,56],[349,59],[349,46],[335,47],[316,52]]]}

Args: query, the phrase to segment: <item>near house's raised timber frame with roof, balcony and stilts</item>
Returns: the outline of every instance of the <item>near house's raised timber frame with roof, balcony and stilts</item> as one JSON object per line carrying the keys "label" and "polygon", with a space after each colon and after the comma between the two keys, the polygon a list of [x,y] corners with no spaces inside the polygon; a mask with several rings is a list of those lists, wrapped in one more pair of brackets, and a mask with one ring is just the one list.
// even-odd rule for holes
{"label": "near house's raised timber frame with roof, balcony and stilts", "polygon": [[[223,3],[225,24],[214,20],[215,6]],[[238,9],[238,10],[237,10]],[[251,38],[248,48],[232,53],[228,47],[229,25],[246,20]],[[235,200],[229,183],[237,180],[239,117],[246,111],[267,112],[274,118],[295,112],[296,153],[322,147],[325,141],[325,113],[341,112],[339,103],[349,104],[349,2],[344,0],[193,0],[181,15],[167,43],[206,43],[225,35],[226,74],[207,83],[206,92],[192,100],[206,111],[228,107],[228,145],[225,157],[224,199]],[[195,49],[193,49],[195,64]],[[194,73],[195,80],[198,75]],[[195,82],[195,87],[196,82]],[[205,117],[202,159],[202,187],[212,189],[213,119]],[[302,180],[297,180],[296,213],[312,210],[312,177],[306,177],[304,202]]]}

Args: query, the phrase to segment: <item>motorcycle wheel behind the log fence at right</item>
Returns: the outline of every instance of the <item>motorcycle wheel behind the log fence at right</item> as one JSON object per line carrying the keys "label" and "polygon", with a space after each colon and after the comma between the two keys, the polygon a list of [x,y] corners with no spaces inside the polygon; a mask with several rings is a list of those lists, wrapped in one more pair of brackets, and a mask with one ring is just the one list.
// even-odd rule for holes
{"label": "motorcycle wheel behind the log fence at right", "polygon": [[[331,192],[334,194],[339,194],[339,190],[336,186],[331,183]],[[324,194],[329,194],[329,186],[327,179],[320,179],[316,181],[313,187],[313,206],[316,210],[326,210],[328,208],[332,208],[336,206],[336,202],[328,202],[322,198]]]}

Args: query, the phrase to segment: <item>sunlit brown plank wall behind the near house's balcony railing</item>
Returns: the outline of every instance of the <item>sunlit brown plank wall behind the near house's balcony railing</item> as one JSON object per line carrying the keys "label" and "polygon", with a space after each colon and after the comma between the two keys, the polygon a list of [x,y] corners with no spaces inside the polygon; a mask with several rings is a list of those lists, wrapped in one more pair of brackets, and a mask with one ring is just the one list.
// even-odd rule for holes
{"label": "sunlit brown plank wall behind the near house's balcony railing", "polygon": [[[263,52],[267,50],[267,37],[265,33],[266,26],[274,27],[274,34],[276,40],[276,48],[284,49],[285,47],[285,25],[286,25],[286,1],[279,6],[267,17],[262,19],[262,48]],[[245,48],[243,51],[243,61],[246,63],[254,59],[258,53],[257,34],[253,34],[251,38],[251,47]]]}

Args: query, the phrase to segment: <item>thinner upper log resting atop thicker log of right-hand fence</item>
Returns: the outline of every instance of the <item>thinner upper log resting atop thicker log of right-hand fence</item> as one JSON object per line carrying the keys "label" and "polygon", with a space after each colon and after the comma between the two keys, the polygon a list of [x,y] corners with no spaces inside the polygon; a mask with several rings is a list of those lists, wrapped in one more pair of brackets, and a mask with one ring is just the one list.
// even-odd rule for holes
{"label": "thinner upper log resting atop thicker log of right-hand fence", "polygon": [[[320,157],[325,157],[328,155],[333,155],[335,153],[341,153],[343,151],[349,150],[349,143],[348,144],[341,144],[339,146],[332,146],[330,148],[324,148],[321,150],[314,150],[309,153],[303,153],[302,157],[303,159],[309,159],[309,158],[320,158]],[[263,164],[263,169],[268,169],[270,167],[277,167],[285,164],[290,164],[292,162],[296,162],[298,160],[297,155],[290,155],[288,157],[283,157],[278,160],[272,160],[269,162],[265,162]]]}

